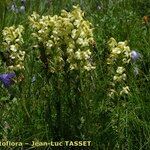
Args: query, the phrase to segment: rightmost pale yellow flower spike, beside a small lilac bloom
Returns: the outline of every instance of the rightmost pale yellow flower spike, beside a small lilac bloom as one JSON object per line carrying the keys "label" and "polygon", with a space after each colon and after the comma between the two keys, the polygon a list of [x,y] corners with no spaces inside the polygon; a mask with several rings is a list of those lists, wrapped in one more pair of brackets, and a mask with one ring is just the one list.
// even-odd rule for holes
{"label": "rightmost pale yellow flower spike, beside a small lilac bloom", "polygon": [[[126,84],[125,81],[127,80],[127,75],[125,68],[131,60],[130,47],[127,46],[127,41],[117,43],[114,38],[111,38],[109,40],[108,45],[110,47],[110,56],[109,58],[107,58],[107,64],[110,67],[109,70],[112,70],[110,71],[110,73],[113,74],[114,87],[116,84],[118,84],[118,82]],[[115,70],[117,64],[119,64],[119,66],[117,67],[116,71],[113,71]],[[117,93],[119,93],[119,95],[117,94],[117,96],[122,96],[123,94],[128,95],[130,91],[128,86],[122,87],[121,91],[120,87],[115,87],[114,90],[117,91]],[[111,97],[114,93],[110,92],[108,94]]]}

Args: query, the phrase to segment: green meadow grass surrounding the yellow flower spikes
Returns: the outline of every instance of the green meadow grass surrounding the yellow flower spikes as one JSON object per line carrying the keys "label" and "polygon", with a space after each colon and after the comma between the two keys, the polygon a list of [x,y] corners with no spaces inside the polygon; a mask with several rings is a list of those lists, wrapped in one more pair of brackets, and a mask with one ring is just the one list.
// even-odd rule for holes
{"label": "green meadow grass surrounding the yellow flower spikes", "polygon": [[[17,4],[20,6],[19,2]],[[85,18],[93,24],[96,41],[93,61],[96,69],[87,74],[47,75],[31,46],[33,41],[28,16],[33,11],[41,15],[60,14],[61,9],[72,10],[74,4],[79,4]],[[6,26],[23,25],[23,50],[26,51],[25,70],[22,72],[24,79],[10,88],[15,96],[13,100],[9,100],[8,90],[0,84],[0,139],[29,143],[36,140],[87,140],[91,141],[92,147],[84,149],[149,150],[150,22],[142,23],[142,17],[150,15],[149,5],[145,0],[52,0],[51,3],[34,0],[27,1],[25,14],[16,14],[0,3],[0,32]],[[110,37],[117,41],[127,40],[131,50],[137,50],[142,55],[136,62],[139,74],[134,76],[132,64],[127,70],[131,95],[115,100],[107,96],[111,80],[107,70],[107,42]],[[0,73],[4,72],[6,66],[2,62]],[[32,83],[33,76],[36,81]]]}

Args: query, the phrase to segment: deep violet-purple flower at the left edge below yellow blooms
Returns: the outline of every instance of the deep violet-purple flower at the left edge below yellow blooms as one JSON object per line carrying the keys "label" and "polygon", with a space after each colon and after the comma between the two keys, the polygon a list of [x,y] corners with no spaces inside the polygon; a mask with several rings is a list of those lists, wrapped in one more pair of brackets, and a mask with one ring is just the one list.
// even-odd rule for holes
{"label": "deep violet-purple flower at the left edge below yellow blooms", "polygon": [[5,74],[0,74],[0,81],[4,84],[5,87],[9,87],[12,82],[13,78],[16,77],[15,73],[5,73]]}

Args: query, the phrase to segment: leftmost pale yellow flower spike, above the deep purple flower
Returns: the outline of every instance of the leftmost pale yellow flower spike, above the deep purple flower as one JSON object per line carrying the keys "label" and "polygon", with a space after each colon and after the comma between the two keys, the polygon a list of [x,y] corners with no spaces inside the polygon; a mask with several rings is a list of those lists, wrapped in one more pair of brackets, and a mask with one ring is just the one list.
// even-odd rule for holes
{"label": "leftmost pale yellow flower spike, above the deep purple flower", "polygon": [[5,27],[2,31],[4,41],[3,46],[5,49],[9,50],[9,58],[13,60],[13,65],[8,66],[11,70],[23,68],[25,52],[19,50],[23,43],[23,31],[24,27],[22,25],[19,25],[17,28],[15,26]]}

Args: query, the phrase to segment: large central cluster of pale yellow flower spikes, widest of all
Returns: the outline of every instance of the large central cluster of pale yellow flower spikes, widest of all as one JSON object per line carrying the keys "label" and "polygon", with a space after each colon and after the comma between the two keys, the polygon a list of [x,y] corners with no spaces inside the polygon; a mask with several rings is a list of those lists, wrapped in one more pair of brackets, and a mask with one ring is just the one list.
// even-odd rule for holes
{"label": "large central cluster of pale yellow flower spikes, widest of all", "polygon": [[[71,12],[62,10],[60,16],[41,16],[37,17],[38,19],[35,19],[34,15],[29,17],[31,27],[34,29],[33,37],[43,43],[46,55],[51,58],[50,70],[56,72],[63,68],[62,54],[65,53],[71,70],[95,68],[89,60],[90,42],[94,41],[93,29],[91,29],[91,23],[85,21],[83,16],[84,13],[80,7],[74,6]],[[54,53],[51,52],[53,47],[56,49]],[[56,67],[58,64],[60,66]],[[85,69],[84,66],[86,66]]]}

